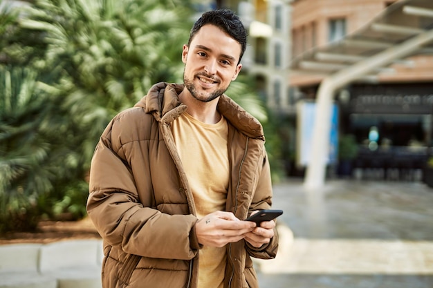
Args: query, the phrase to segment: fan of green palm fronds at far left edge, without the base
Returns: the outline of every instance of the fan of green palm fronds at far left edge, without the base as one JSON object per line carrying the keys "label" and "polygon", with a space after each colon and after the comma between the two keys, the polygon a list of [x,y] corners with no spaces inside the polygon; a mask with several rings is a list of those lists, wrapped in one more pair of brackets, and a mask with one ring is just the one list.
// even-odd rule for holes
{"label": "fan of green palm fronds at far left edge, without the base", "polygon": [[[30,171],[46,157],[38,140],[38,126],[44,119],[46,103],[39,97],[36,73],[26,68],[0,66],[0,182],[12,185],[17,175]],[[45,152],[44,152],[45,151]],[[9,175],[9,176],[8,176]],[[20,183],[19,185],[22,185]],[[7,191],[2,191],[6,193]]]}

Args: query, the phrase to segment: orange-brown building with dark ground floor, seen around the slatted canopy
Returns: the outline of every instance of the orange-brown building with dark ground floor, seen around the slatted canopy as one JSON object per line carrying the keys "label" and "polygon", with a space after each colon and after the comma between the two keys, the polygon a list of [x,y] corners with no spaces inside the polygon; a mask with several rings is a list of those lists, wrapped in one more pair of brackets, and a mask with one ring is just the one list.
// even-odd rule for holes
{"label": "orange-brown building with dark ground floor, seen around the slatted canopy", "polygon": [[[302,57],[313,48],[331,47],[347,35],[362,30],[384,10],[394,9],[396,2],[293,1],[293,57]],[[417,3],[430,1],[412,1],[411,4]],[[421,25],[427,30],[431,29],[428,13],[432,11],[424,9],[426,18],[416,19],[426,20],[425,23],[428,20],[428,25]],[[390,31],[389,26],[385,28]],[[409,29],[400,29],[403,31],[389,33],[410,32]],[[418,172],[422,170],[432,146],[432,55],[433,51],[427,50],[421,55],[399,59],[378,70],[371,79],[358,79],[335,93],[335,103],[340,108],[339,133],[354,135],[360,148],[357,159],[353,161],[356,168],[376,171],[371,176],[380,178],[417,180],[421,177]],[[291,73],[289,83],[296,88],[300,99],[315,101],[317,88],[324,77],[317,73]]]}

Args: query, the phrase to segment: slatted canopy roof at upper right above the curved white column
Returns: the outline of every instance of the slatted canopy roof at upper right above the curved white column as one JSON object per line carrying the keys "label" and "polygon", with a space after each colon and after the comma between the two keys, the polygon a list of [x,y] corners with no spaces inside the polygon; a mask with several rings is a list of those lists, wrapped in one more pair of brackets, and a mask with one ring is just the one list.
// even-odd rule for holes
{"label": "slatted canopy roof at upper right above the curved white column", "polygon": [[[295,57],[290,66],[291,74],[311,75],[318,83],[331,73],[403,44],[432,28],[433,0],[398,1],[364,28],[344,39],[313,48]],[[411,65],[407,57],[414,55],[433,55],[433,44],[419,46],[409,55],[394,59],[391,64]],[[389,71],[388,66],[377,67],[358,79],[374,80],[378,73]]]}

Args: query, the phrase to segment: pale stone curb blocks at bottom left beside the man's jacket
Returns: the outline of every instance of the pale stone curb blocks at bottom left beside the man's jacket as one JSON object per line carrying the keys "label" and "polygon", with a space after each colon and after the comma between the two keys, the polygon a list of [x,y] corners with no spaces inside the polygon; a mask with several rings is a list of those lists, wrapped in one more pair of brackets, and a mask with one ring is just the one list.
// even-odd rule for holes
{"label": "pale stone curb blocks at bottom left beside the man's jacket", "polygon": [[102,288],[102,240],[0,245],[0,288]]}

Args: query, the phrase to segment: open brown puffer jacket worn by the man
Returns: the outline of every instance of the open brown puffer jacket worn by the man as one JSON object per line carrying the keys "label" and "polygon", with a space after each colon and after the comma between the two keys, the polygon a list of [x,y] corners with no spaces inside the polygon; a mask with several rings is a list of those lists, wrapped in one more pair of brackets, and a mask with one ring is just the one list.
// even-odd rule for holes
{"label": "open brown puffer jacket worn by the man", "polygon": [[[104,288],[195,288],[199,249],[194,201],[174,146],[171,122],[186,110],[183,85],[159,83],[105,129],[91,163],[89,216],[104,240]],[[245,219],[269,209],[270,170],[259,122],[222,95],[229,122],[230,184],[226,211]],[[250,256],[275,258],[277,231],[266,247],[227,245],[225,285],[258,287]]]}

